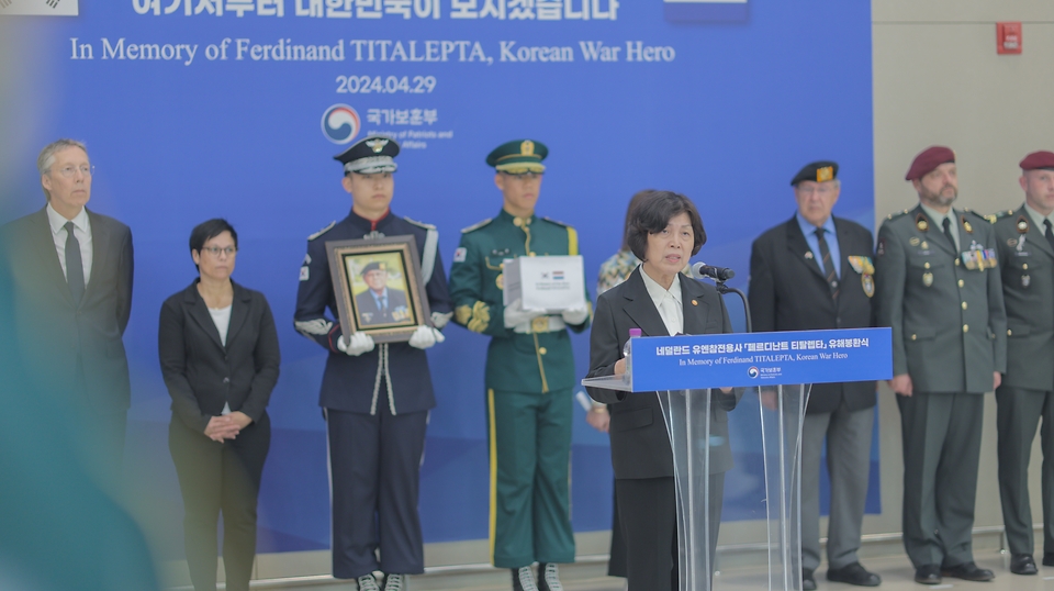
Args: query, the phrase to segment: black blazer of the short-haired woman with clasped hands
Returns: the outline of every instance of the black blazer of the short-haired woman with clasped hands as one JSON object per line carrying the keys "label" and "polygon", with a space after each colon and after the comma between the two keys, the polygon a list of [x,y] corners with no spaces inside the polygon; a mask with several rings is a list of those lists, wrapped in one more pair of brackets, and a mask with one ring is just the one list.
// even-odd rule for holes
{"label": "black blazer of the short-haired woman with clasped hands", "polygon": [[259,421],[281,364],[278,331],[267,299],[237,283],[226,346],[220,342],[194,280],[161,305],[157,352],[172,397],[172,421],[178,417],[188,428],[202,433],[224,403]]}

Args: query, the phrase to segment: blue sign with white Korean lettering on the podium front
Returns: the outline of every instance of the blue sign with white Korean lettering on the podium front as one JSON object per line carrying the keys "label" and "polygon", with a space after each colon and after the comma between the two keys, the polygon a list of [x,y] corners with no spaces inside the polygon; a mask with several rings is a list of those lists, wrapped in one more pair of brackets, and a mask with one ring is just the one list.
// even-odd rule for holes
{"label": "blue sign with white Korean lettering on the podium front", "polygon": [[775,387],[893,378],[889,328],[633,339],[633,390]]}

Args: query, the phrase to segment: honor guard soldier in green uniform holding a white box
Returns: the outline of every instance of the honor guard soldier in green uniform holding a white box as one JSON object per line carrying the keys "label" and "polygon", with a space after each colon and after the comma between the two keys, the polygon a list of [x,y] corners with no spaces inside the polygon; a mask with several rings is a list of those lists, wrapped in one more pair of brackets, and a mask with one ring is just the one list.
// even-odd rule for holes
{"label": "honor guard soldier in green uniform holding a white box", "polygon": [[574,560],[568,470],[575,379],[568,328],[588,326],[588,293],[583,306],[556,315],[524,310],[520,300],[502,303],[503,260],[579,254],[574,228],[535,215],[548,152],[530,140],[491,152],[486,164],[496,170],[504,204],[496,218],[461,231],[450,268],[455,321],[491,337],[484,380],[491,560],[513,570],[516,591],[561,591],[557,562]]}

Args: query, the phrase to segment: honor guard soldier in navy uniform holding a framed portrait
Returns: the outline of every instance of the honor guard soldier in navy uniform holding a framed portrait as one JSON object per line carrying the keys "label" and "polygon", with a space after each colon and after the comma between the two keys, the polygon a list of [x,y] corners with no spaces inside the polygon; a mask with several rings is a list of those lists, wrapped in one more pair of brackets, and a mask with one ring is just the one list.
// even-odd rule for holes
{"label": "honor guard soldier in navy uniform holding a framed portrait", "polygon": [[[418,477],[428,410],[436,405],[424,349],[444,341],[438,328],[451,315],[438,232],[389,207],[397,154],[399,144],[374,136],[335,156],[344,165],[351,212],[307,237],[294,319],[301,334],[329,352],[318,404],[329,443],[333,576],[357,579],[361,591],[379,589],[375,570],[386,573],[388,591],[405,589],[407,575],[424,572]],[[348,334],[330,320],[339,316],[326,242],[407,234],[416,238],[436,327],[419,326],[408,343],[380,345],[366,333]],[[368,265],[365,275],[375,270],[379,265]]]}

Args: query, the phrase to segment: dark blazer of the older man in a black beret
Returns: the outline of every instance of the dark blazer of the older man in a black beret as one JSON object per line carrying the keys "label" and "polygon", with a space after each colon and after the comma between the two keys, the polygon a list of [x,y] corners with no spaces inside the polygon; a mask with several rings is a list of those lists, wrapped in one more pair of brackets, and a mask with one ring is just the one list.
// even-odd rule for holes
{"label": "dark blazer of the older man in a black beret", "polygon": [[[754,241],[748,292],[755,332],[874,326],[862,274],[853,269],[848,258],[864,256],[874,261],[874,238],[864,226],[841,218],[834,218],[834,233],[841,257],[837,305],[796,216]],[[816,383],[806,412],[832,412],[842,400],[851,411],[874,406],[875,382]]]}

